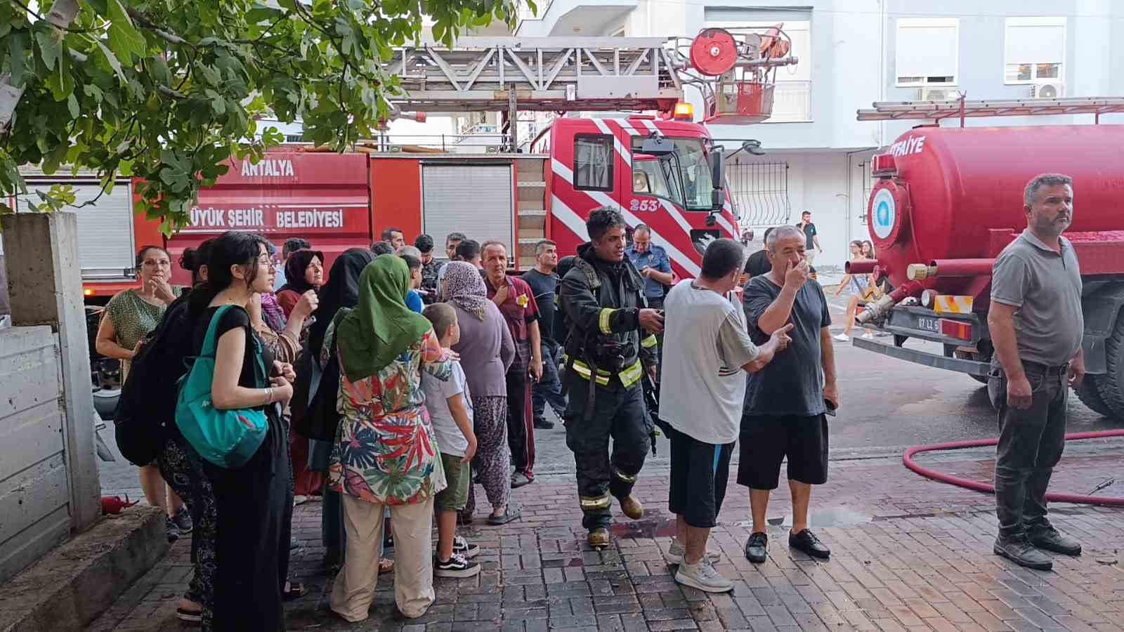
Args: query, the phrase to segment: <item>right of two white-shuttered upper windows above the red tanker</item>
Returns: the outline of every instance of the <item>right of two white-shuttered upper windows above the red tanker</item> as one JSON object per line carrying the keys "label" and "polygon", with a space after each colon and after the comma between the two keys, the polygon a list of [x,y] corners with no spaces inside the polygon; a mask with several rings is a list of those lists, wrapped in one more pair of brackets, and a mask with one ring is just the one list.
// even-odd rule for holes
{"label": "right of two white-shuttered upper windows above the red tanker", "polygon": [[1061,78],[1066,18],[1007,18],[1004,83]]}

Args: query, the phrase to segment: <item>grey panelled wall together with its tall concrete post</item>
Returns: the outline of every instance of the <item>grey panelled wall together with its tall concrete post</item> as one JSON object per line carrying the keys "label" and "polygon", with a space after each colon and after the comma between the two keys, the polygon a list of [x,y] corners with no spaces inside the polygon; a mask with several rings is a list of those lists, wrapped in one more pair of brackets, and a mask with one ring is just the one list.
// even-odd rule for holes
{"label": "grey panelled wall together with its tall concrete post", "polygon": [[0,328],[0,583],[101,516],[73,213],[0,216],[11,327]]}

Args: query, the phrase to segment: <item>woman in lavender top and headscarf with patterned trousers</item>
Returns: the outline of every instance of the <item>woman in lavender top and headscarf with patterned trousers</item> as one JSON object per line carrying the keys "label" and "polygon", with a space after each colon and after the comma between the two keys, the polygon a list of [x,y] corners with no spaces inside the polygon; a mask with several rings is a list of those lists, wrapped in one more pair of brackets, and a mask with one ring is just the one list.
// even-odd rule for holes
{"label": "woman in lavender top and headscarf with patterned trousers", "polygon": [[[515,360],[515,342],[504,315],[491,300],[480,271],[471,263],[454,261],[444,268],[443,296],[456,312],[461,341],[453,351],[469,378],[472,425],[477,433],[473,477],[484,486],[492,506],[489,524],[505,524],[519,515],[508,505],[511,495],[511,450],[507,444],[507,371]],[[461,513],[461,522],[472,522],[477,507],[473,486]]]}

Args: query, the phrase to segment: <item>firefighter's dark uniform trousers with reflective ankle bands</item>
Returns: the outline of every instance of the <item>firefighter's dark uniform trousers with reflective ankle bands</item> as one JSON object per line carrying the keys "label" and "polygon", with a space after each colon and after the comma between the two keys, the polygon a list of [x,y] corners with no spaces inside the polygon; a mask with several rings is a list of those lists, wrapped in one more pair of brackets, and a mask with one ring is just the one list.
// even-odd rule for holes
{"label": "firefighter's dark uniform trousers with reflective ankle bands", "polygon": [[570,404],[564,415],[565,444],[578,468],[581,524],[592,531],[613,521],[611,496],[632,494],[651,446],[652,426],[640,383],[625,388],[614,377],[609,386],[597,386],[593,415],[587,419],[591,385],[578,376],[566,379]]}

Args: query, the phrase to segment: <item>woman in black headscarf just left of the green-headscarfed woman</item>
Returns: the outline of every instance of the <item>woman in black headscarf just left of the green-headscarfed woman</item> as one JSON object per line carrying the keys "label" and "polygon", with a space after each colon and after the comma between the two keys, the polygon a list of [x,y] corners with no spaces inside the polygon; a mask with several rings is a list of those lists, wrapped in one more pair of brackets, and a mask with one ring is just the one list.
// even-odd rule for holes
{"label": "woman in black headscarf just left of the green-headscarfed woman", "polygon": [[[317,308],[318,318],[308,328],[308,349],[312,353],[312,382],[325,388],[338,389],[338,359],[334,353],[329,327],[341,310],[346,313],[359,305],[359,277],[368,263],[374,261],[374,253],[369,249],[350,249],[344,251],[332,264],[328,282],[320,288],[320,305]],[[334,327],[332,327],[334,331]],[[323,379],[321,379],[323,376]],[[312,394],[309,394],[311,397]],[[333,397],[333,400],[335,397]],[[309,441],[308,469],[327,473],[328,457],[332,455],[333,442]],[[328,487],[324,477],[324,511],[320,514],[320,539],[324,542],[324,562],[327,567],[338,565],[343,560],[343,504],[339,493]]]}

